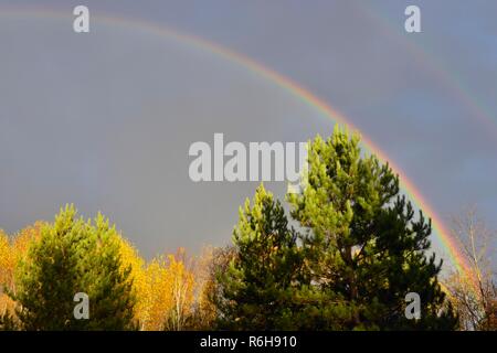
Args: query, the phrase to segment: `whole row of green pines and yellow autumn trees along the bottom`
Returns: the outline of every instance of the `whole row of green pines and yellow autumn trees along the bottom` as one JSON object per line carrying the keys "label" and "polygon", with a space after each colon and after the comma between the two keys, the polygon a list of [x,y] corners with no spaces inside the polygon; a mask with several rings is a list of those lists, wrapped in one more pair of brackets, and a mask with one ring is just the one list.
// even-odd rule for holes
{"label": "whole row of green pines and yellow autumn trees along the bottom", "polygon": [[[308,165],[284,201],[261,184],[232,244],[198,258],[180,249],[145,261],[106,217],[84,220],[72,205],[52,223],[0,233],[0,329],[495,330],[485,252],[462,244],[470,270],[442,280],[431,221],[359,136],[317,136]],[[473,245],[480,233],[473,226]],[[77,292],[88,320],[74,317]],[[408,293],[420,298],[416,318]]]}

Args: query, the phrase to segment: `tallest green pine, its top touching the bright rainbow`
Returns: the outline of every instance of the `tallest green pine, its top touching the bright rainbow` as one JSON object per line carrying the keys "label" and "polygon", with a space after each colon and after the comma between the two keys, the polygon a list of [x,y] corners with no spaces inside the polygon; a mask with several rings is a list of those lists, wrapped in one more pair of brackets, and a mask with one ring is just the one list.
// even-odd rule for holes
{"label": "tallest green pine, its top touching the bright rainbow", "polygon": [[[390,167],[361,156],[359,137],[339,128],[310,143],[308,162],[304,191],[288,195],[306,229],[308,328],[453,329],[436,277],[442,261],[427,258],[431,223],[414,217]],[[409,292],[421,297],[419,320],[404,315]]]}

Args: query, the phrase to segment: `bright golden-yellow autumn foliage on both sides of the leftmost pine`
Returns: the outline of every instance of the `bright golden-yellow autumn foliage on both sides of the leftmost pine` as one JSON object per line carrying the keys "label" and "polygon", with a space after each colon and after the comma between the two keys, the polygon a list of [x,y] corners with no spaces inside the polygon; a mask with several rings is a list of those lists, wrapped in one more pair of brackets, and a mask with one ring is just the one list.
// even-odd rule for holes
{"label": "bright golden-yellow autumn foliage on both sides of the leftmost pine", "polygon": [[[15,295],[15,272],[25,259],[30,246],[40,239],[45,223],[36,222],[13,236],[0,229],[0,318],[11,317],[15,322],[20,306]],[[138,330],[195,329],[195,308],[202,277],[202,259],[190,258],[180,248],[176,254],[163,254],[146,261],[133,244],[118,237],[121,271],[129,271],[136,296],[134,321]],[[198,280],[199,279],[199,280]]]}

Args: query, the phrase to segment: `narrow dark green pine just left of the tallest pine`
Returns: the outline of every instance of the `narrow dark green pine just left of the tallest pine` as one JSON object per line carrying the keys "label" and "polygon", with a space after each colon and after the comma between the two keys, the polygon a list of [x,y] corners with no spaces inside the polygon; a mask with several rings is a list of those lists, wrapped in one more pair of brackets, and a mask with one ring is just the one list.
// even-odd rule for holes
{"label": "narrow dark green pine just left of the tallest pine", "polygon": [[293,328],[294,287],[302,264],[296,242],[283,206],[261,184],[253,206],[246,200],[240,208],[231,263],[218,272],[221,329]]}

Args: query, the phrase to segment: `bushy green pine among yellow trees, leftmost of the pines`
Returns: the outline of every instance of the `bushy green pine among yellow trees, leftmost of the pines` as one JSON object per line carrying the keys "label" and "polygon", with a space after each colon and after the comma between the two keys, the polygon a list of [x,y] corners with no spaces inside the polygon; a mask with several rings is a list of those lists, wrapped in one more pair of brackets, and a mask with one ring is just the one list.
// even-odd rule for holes
{"label": "bushy green pine among yellow trees, leftmost of the pines", "polygon": [[[14,299],[25,330],[124,330],[131,325],[129,270],[120,268],[118,235],[102,215],[76,218],[66,206],[43,226],[17,274]],[[89,298],[89,319],[74,317],[74,296]]]}

